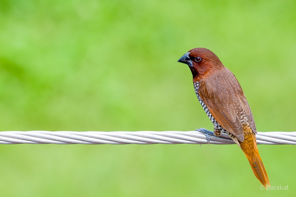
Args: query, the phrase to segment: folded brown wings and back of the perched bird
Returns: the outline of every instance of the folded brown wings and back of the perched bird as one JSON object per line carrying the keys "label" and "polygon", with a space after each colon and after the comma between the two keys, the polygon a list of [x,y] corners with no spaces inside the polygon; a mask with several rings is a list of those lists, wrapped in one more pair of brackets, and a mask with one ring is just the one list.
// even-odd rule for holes
{"label": "folded brown wings and back of the perched bird", "polygon": [[234,75],[232,73],[231,75],[232,77],[224,75],[221,79],[215,80],[200,80],[199,95],[215,120],[239,141],[244,141],[241,122],[244,120],[240,119],[244,115],[247,116],[254,133],[256,126],[242,88]]}

